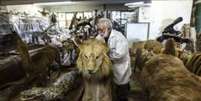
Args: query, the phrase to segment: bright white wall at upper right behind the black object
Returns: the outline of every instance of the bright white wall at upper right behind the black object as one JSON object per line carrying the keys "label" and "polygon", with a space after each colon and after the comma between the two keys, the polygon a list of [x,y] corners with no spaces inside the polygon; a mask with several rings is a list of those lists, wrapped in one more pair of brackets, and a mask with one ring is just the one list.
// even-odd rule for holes
{"label": "bright white wall at upper right behind the black object", "polygon": [[184,23],[190,23],[192,4],[193,0],[152,0],[150,7],[140,8],[139,21],[150,22],[150,39],[155,39],[177,17],[183,17],[175,26],[178,30]]}

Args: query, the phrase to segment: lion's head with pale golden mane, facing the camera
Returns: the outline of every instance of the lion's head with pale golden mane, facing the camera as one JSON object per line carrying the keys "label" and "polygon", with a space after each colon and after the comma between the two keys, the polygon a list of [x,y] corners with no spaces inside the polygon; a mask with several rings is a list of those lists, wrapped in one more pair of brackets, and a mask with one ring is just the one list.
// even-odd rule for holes
{"label": "lion's head with pale golden mane, facing the camera", "polygon": [[109,48],[96,39],[84,41],[79,46],[77,68],[87,77],[105,77],[111,72],[111,61],[107,55]]}

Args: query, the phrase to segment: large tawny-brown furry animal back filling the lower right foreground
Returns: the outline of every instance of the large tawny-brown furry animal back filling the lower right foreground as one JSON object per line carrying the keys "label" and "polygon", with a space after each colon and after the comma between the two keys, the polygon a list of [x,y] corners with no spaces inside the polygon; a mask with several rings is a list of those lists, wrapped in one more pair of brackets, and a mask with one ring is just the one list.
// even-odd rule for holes
{"label": "large tawny-brown furry animal back filling the lower right foreground", "polygon": [[140,81],[148,101],[201,101],[200,78],[173,55],[156,55],[145,63]]}

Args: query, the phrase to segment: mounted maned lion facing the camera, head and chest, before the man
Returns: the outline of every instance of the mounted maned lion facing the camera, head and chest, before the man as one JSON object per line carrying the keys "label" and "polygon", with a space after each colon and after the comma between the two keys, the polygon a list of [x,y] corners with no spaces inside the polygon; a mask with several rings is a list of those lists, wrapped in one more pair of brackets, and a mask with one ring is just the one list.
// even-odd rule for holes
{"label": "mounted maned lion facing the camera, head and chest, before the man", "polygon": [[79,49],[77,68],[83,75],[85,88],[82,101],[112,101],[111,61],[106,44],[89,39]]}

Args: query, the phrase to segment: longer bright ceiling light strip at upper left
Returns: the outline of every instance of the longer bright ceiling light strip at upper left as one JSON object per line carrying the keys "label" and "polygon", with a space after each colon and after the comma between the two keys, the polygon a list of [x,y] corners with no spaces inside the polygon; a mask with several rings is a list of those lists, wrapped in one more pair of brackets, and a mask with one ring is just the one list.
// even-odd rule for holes
{"label": "longer bright ceiling light strip at upper left", "polygon": [[65,1],[65,2],[45,2],[45,3],[34,3],[34,5],[37,6],[48,6],[48,5],[72,5],[77,4],[78,2],[72,2],[72,1]]}

